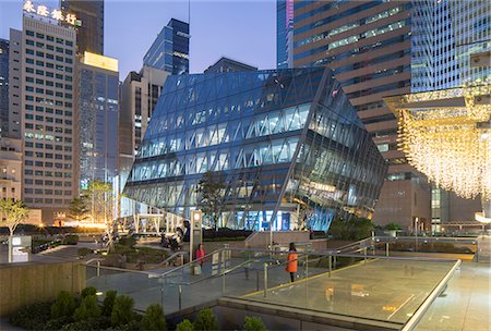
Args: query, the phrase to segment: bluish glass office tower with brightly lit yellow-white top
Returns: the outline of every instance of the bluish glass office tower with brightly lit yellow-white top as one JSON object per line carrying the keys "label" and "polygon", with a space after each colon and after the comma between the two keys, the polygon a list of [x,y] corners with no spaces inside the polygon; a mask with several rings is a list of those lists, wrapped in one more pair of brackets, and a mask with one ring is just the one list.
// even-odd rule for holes
{"label": "bluish glass office tower with brightly lit yellow-white top", "polygon": [[118,174],[118,60],[85,52],[77,64],[76,142],[80,189]]}

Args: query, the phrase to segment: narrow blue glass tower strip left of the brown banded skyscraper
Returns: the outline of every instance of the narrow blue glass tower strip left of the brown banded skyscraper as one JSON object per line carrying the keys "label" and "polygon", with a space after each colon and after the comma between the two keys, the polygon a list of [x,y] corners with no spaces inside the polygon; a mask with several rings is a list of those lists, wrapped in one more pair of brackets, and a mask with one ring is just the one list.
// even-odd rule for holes
{"label": "narrow blue glass tower strip left of the brown banded skyscraper", "polygon": [[294,68],[294,0],[276,2],[276,68]]}

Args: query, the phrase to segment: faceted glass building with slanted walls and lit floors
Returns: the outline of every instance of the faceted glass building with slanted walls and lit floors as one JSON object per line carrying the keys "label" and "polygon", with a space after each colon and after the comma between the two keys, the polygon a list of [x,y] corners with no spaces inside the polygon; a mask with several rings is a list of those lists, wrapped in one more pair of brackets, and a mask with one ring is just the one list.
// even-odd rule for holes
{"label": "faceted glass building with slanted walls and lit floors", "polygon": [[328,69],[167,78],[125,185],[190,216],[207,171],[225,183],[220,225],[327,230],[371,217],[386,164]]}

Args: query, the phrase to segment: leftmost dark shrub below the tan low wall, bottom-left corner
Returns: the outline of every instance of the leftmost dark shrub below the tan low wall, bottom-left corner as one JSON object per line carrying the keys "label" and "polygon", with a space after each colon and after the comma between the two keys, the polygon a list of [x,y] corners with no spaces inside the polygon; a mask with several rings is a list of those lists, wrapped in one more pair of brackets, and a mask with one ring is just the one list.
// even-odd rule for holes
{"label": "leftmost dark shrub below the tan low wall, bottom-left corner", "polygon": [[25,330],[41,330],[49,320],[50,311],[51,303],[32,304],[12,315],[10,322]]}

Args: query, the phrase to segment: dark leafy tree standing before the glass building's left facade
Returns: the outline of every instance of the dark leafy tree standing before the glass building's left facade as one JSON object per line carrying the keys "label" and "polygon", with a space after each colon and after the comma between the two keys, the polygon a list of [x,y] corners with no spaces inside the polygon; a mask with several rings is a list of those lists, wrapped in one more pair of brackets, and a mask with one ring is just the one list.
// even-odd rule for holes
{"label": "dark leafy tree standing before the glass building's left facade", "polygon": [[203,213],[211,218],[213,228],[216,230],[221,212],[221,196],[225,183],[219,175],[207,171],[197,184],[197,206]]}

